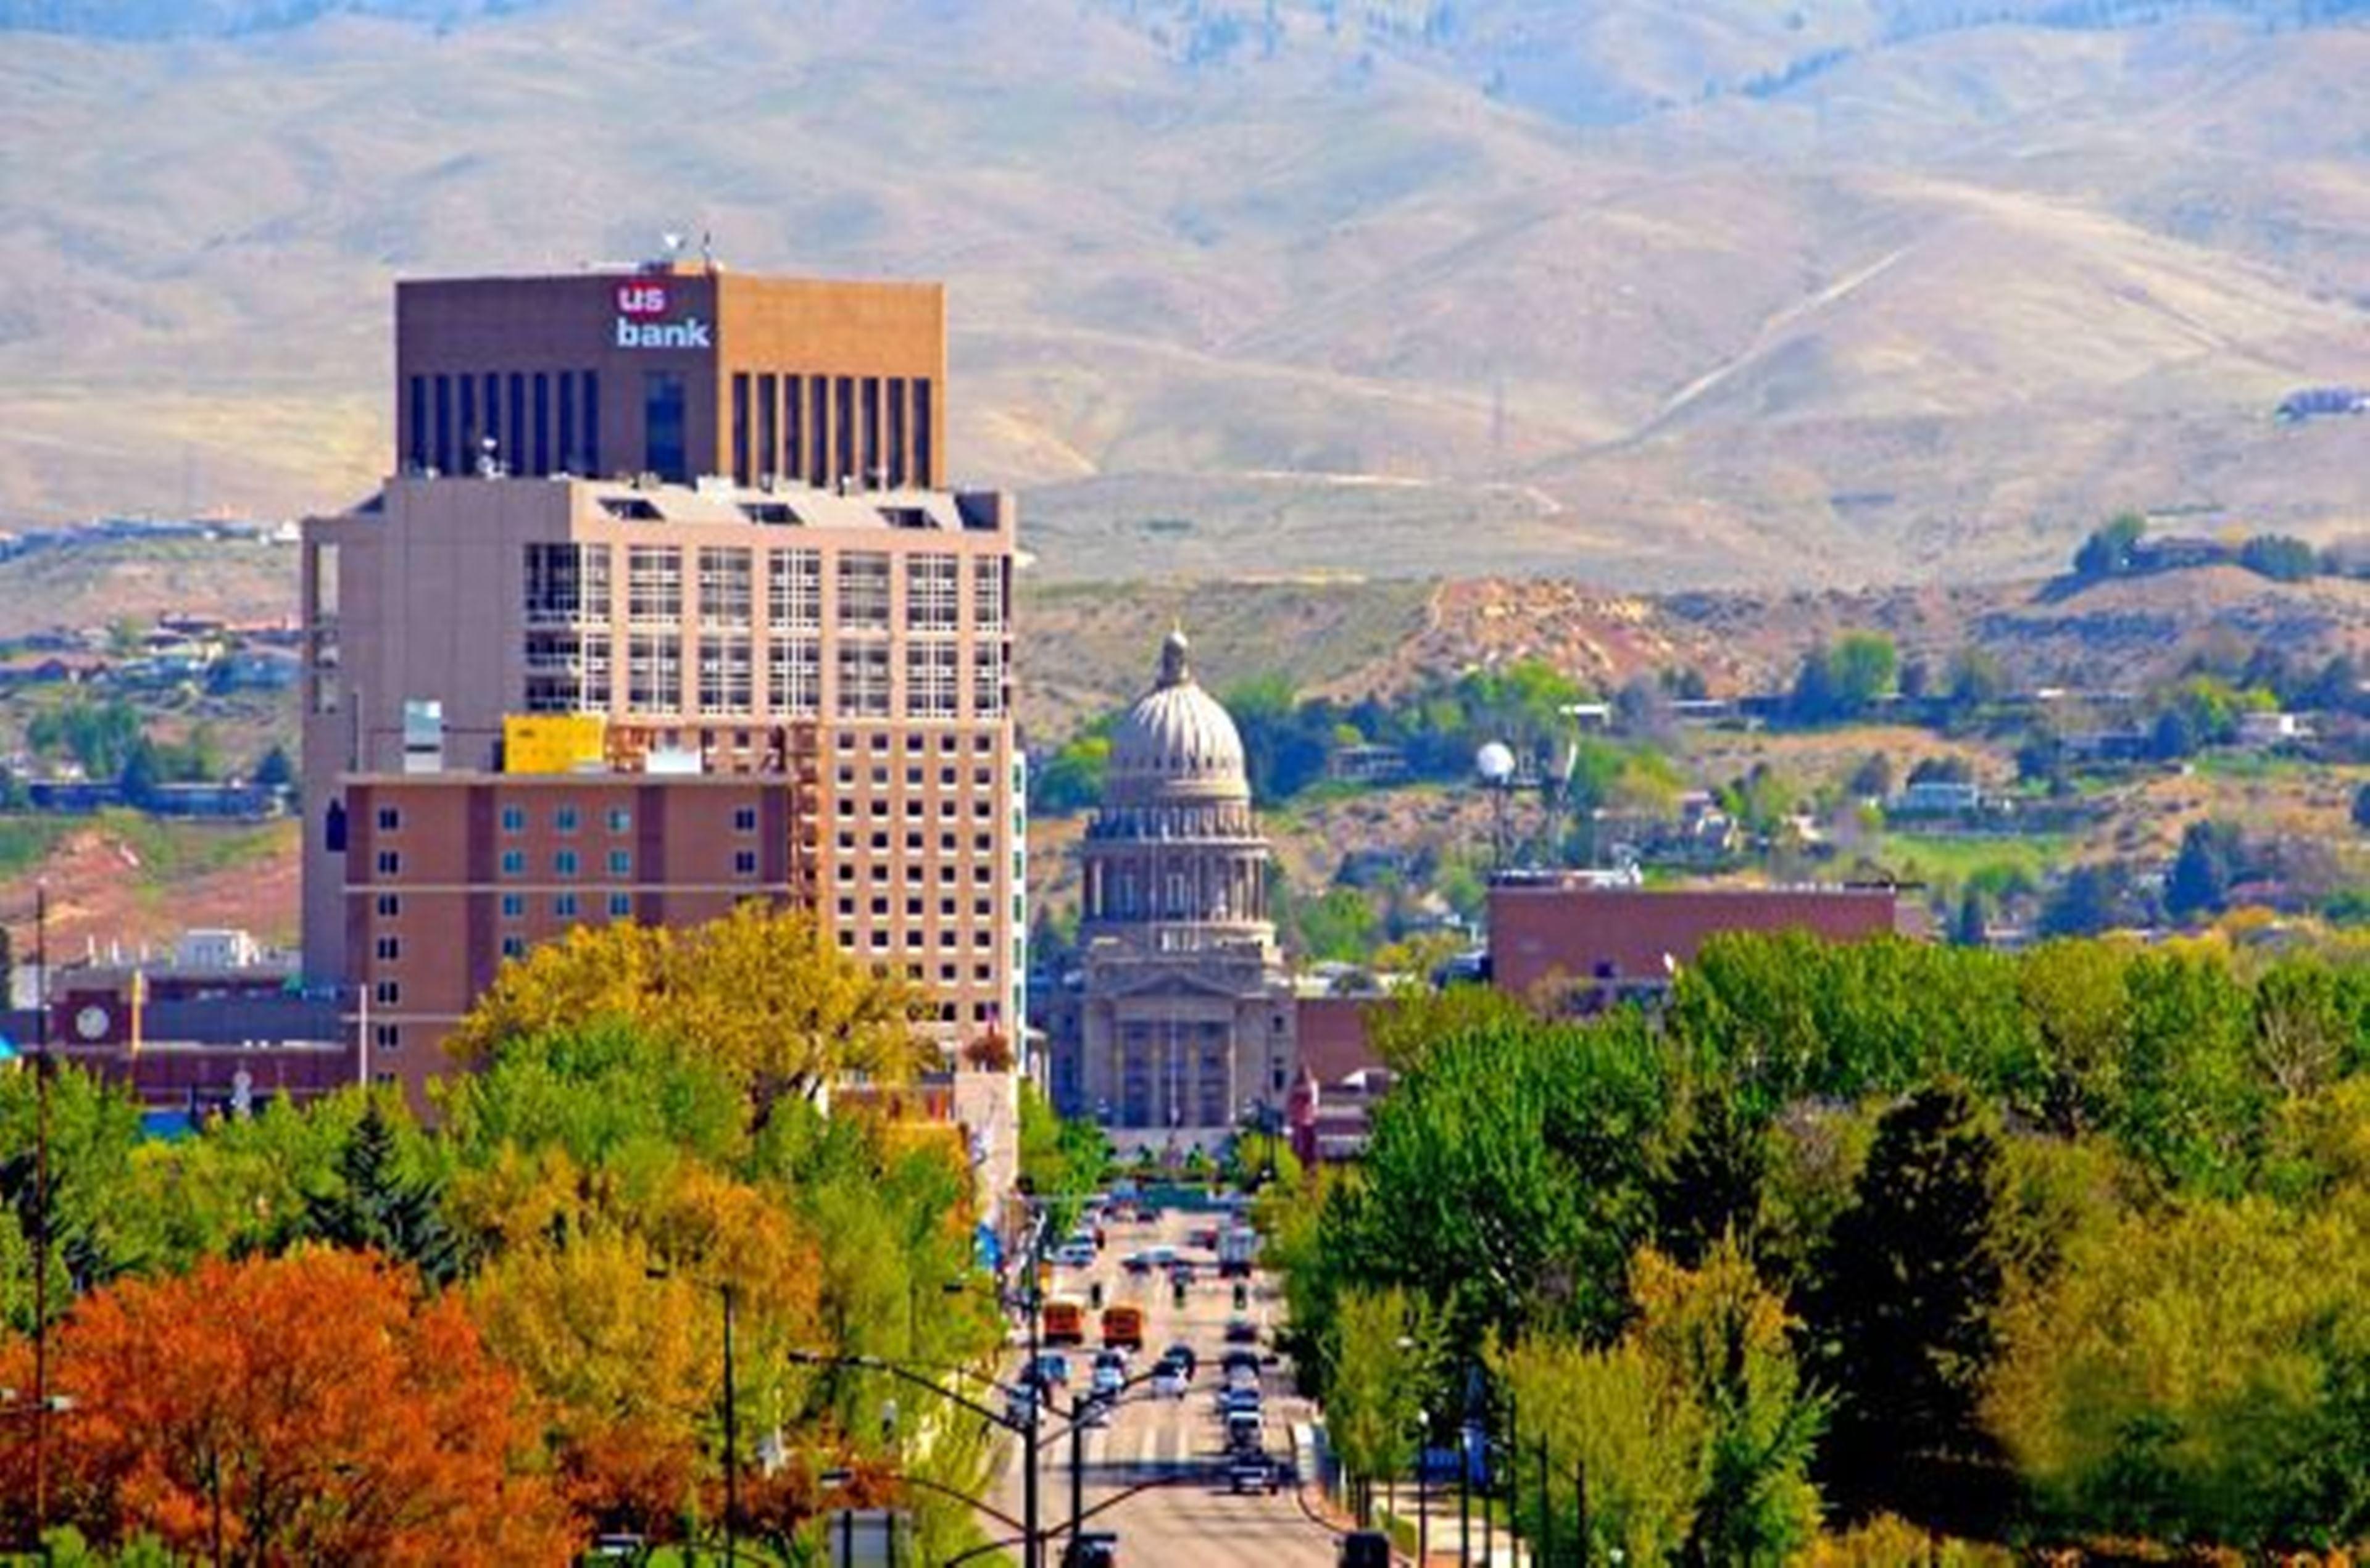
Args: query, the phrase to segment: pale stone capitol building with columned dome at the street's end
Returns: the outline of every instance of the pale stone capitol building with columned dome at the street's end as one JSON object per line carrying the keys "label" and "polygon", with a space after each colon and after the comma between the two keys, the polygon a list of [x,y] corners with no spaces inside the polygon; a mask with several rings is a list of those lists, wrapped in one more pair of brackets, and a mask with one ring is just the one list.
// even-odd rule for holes
{"label": "pale stone capitol building with columned dome at the street's end", "polygon": [[1064,1116],[1211,1144],[1282,1111],[1294,992],[1242,734],[1190,654],[1171,632],[1159,677],[1112,734],[1081,848],[1081,962],[1038,1000]]}

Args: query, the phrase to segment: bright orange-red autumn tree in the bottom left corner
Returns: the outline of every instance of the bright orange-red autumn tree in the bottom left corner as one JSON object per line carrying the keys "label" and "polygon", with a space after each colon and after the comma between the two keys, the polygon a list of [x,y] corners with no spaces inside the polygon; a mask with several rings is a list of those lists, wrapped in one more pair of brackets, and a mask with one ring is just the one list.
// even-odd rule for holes
{"label": "bright orange-red autumn tree in the bottom left corner", "polygon": [[[0,1381],[31,1379],[31,1345]],[[457,1296],[365,1253],[211,1258],[126,1281],[52,1331],[50,1521],[220,1563],[566,1563],[519,1379]],[[31,1521],[12,1424],[0,1502]]]}

